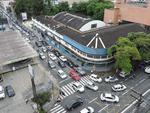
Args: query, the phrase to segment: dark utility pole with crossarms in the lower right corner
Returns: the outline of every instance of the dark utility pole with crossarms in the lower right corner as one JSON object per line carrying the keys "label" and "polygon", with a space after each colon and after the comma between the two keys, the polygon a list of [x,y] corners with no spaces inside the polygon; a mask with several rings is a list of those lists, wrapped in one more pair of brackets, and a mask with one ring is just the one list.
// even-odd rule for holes
{"label": "dark utility pole with crossarms in the lower right corner", "polygon": [[[139,112],[139,109],[140,109],[140,106],[142,104],[142,102],[144,102],[143,100],[143,96],[141,93],[137,92],[136,90],[132,89],[132,91],[134,92],[135,95],[131,94],[131,96],[135,99],[137,99],[137,103],[136,103],[136,110],[134,111],[135,113],[140,113]],[[138,97],[137,97],[138,96]]]}

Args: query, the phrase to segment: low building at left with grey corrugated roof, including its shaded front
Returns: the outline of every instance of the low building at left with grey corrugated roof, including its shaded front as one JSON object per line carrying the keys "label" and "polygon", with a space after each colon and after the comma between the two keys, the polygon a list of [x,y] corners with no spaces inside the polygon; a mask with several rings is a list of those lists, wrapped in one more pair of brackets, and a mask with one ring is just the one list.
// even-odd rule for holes
{"label": "low building at left with grey corrugated roof, including its shaded front", "polygon": [[0,32],[0,74],[34,63],[37,56],[19,32]]}

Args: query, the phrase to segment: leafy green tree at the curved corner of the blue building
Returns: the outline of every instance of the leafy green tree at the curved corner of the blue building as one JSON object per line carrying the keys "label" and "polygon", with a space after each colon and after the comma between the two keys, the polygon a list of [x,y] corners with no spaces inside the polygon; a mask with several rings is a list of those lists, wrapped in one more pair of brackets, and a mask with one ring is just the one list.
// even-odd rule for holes
{"label": "leafy green tree at the curved corner of the blue building", "polygon": [[125,37],[120,37],[116,44],[108,49],[108,53],[114,56],[116,68],[126,73],[132,70],[132,60],[141,60],[136,45]]}

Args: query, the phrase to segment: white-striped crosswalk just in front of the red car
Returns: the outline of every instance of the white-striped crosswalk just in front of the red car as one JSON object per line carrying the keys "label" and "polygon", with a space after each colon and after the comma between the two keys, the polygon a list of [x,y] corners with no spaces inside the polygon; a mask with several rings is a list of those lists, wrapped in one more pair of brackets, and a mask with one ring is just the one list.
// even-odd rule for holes
{"label": "white-striped crosswalk just in front of the red car", "polygon": [[[92,82],[92,80],[89,78],[89,76],[84,76],[78,82],[80,82],[82,85],[85,85],[87,82]],[[63,91],[65,94],[65,95],[60,95],[61,99],[64,99],[65,97],[76,92],[76,90],[73,89],[73,87],[72,87],[73,83],[75,83],[75,81],[61,87],[61,91]]]}

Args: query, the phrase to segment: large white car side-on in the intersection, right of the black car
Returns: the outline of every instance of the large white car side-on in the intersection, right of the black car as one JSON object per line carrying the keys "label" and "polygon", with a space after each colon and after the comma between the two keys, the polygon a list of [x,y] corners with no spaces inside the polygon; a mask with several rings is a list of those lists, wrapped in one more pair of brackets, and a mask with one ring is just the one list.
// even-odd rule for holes
{"label": "large white car side-on in the intersection, right of the black car", "polygon": [[100,98],[102,101],[119,102],[119,97],[111,93],[101,93]]}

